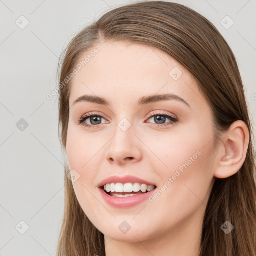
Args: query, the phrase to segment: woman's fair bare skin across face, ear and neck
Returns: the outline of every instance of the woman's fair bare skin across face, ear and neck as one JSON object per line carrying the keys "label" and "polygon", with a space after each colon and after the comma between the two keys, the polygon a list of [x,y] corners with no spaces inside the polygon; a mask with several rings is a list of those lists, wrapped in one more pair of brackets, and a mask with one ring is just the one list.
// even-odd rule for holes
{"label": "woman's fair bare skin across face, ear and neck", "polygon": [[[214,178],[231,176],[242,166],[247,126],[234,122],[214,149],[210,107],[193,76],[179,62],[142,44],[106,41],[96,48],[98,54],[72,79],[69,98],[66,153],[70,170],[80,175],[73,182],[77,199],[104,234],[107,256],[198,256]],[[174,67],[182,71],[178,80],[169,75]],[[182,97],[190,107],[178,100],[137,104],[140,97],[165,93]],[[104,97],[110,104],[84,101],[73,105],[84,94]],[[96,128],[78,124],[86,113],[102,116],[101,124]],[[171,123],[166,117],[165,123],[171,124],[156,127],[161,122],[150,117],[152,113],[169,113],[178,121]],[[118,127],[122,118],[131,124],[125,132]],[[93,125],[90,118],[86,123]],[[109,176],[134,175],[160,189],[198,151],[200,156],[153,202],[116,208],[106,204],[97,188]],[[131,227],[126,233],[118,228],[123,221]]]}

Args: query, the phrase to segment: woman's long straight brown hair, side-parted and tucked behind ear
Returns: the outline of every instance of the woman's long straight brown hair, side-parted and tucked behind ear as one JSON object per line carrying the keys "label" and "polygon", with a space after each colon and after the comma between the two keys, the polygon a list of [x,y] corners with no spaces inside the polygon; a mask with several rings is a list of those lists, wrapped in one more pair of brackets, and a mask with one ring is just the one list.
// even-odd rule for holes
{"label": "woman's long straight brown hair, side-parted and tucked behind ear", "polygon": [[[247,155],[234,175],[215,179],[207,203],[200,256],[256,255],[255,149],[251,122],[235,56],[215,26],[196,11],[178,3],[138,2],[115,8],[82,29],[67,45],[59,62],[59,131],[66,149],[70,82],[63,85],[85,51],[108,41],[154,46],[179,61],[195,77],[214,120],[216,144],[221,132],[242,120],[249,130]],[[65,167],[65,211],[58,256],[105,255],[104,235],[82,211]],[[225,234],[220,226],[234,229]]]}

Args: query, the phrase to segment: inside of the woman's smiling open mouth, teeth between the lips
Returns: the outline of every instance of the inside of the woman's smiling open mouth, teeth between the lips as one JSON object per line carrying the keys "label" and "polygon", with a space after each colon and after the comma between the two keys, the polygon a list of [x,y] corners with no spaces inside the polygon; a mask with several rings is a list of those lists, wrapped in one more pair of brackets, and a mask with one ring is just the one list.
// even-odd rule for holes
{"label": "inside of the woman's smiling open mouth, teeth between the lips", "polygon": [[106,194],[114,197],[128,197],[145,194],[155,188],[155,185],[147,185],[143,183],[107,183],[100,187]]}

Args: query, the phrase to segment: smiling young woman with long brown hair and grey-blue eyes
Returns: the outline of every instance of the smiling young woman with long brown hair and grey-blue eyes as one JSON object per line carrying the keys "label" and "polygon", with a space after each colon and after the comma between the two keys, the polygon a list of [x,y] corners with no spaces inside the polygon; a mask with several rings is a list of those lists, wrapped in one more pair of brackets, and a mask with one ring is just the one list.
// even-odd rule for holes
{"label": "smiling young woman with long brown hair and grey-blue eyes", "polygon": [[60,255],[256,253],[251,123],[217,29],[173,2],[105,13],[59,77]]}

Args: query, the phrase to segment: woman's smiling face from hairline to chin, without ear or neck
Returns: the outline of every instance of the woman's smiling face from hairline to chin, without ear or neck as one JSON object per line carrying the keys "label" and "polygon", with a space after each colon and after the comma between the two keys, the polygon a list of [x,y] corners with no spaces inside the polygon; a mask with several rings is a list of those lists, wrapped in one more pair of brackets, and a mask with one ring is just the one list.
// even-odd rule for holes
{"label": "woman's smiling face from hairline to chin, without ear or neck", "polygon": [[[119,241],[198,229],[212,188],[215,152],[210,108],[193,76],[154,47],[106,41],[96,48],[97,54],[90,55],[92,49],[79,59],[90,55],[72,79],[69,98],[66,152],[83,211],[105,237]],[[159,97],[164,94],[175,96]],[[84,95],[108,104],[88,97],[74,103]],[[85,114],[94,117],[79,123]],[[128,175],[143,181],[103,181]],[[118,192],[120,184],[107,185],[116,189],[108,195],[98,187],[106,183],[156,188],[131,196]]]}

